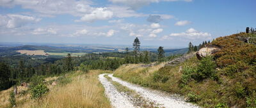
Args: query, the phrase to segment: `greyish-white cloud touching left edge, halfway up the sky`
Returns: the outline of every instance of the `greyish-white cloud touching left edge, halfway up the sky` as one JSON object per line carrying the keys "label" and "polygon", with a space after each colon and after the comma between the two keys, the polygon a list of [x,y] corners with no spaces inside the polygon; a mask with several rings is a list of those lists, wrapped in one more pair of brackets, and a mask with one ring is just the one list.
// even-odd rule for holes
{"label": "greyish-white cloud touching left edge, halfway up the sky", "polygon": [[16,14],[0,15],[0,18],[0,27],[7,28],[21,27],[23,25],[33,24],[41,20],[40,18]]}

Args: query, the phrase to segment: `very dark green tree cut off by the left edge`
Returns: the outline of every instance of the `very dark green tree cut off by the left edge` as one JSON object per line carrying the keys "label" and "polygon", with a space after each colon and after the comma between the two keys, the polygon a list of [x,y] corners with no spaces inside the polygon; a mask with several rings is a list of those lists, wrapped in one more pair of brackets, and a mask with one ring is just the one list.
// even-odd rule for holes
{"label": "very dark green tree cut off by the left edge", "polygon": [[10,67],[3,62],[0,62],[0,90],[9,87]]}

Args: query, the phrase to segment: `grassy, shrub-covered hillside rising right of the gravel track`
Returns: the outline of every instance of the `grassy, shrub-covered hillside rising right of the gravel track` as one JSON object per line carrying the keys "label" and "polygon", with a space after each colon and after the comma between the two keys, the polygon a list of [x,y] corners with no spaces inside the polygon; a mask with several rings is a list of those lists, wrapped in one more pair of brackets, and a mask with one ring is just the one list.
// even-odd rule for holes
{"label": "grassy, shrub-covered hillside rising right of the gravel track", "polygon": [[251,35],[218,37],[207,46],[220,50],[202,60],[194,56],[172,66],[122,65],[114,76],[184,95],[202,107],[256,107],[256,46],[245,39]]}

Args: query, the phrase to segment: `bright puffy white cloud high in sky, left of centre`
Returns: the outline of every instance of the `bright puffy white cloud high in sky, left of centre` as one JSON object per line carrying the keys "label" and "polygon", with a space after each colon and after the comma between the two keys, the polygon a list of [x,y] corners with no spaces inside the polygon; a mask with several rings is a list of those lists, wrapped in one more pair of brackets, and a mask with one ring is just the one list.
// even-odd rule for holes
{"label": "bright puffy white cloud high in sky, left of centre", "polygon": [[83,22],[94,22],[95,20],[108,20],[112,18],[113,12],[107,8],[96,8],[92,13],[84,15],[80,20]]}

